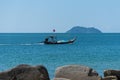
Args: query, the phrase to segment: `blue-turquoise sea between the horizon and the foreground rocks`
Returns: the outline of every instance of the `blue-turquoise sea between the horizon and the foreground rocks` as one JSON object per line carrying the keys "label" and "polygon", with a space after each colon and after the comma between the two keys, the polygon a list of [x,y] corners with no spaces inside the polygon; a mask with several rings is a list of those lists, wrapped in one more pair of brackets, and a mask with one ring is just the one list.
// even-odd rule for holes
{"label": "blue-turquoise sea between the horizon and the foreground rocks", "polygon": [[[72,44],[41,43],[50,35],[77,39]],[[88,66],[103,76],[104,70],[120,69],[120,33],[0,33],[0,72],[20,64],[44,65],[51,79],[65,65]]]}

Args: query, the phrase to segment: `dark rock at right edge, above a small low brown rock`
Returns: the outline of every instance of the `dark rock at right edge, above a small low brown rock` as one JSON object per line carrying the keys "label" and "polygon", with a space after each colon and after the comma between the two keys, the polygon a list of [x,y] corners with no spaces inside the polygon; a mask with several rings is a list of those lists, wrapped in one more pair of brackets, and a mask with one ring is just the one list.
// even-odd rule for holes
{"label": "dark rock at right edge, above a small low brown rock", "polygon": [[120,70],[105,70],[104,77],[106,76],[116,76],[120,80]]}

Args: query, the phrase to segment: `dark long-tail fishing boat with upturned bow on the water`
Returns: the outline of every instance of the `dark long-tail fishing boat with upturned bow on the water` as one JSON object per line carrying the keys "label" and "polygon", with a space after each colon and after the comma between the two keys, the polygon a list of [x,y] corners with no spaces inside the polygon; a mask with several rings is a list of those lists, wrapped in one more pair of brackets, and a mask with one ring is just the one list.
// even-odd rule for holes
{"label": "dark long-tail fishing boat with upturned bow on the water", "polygon": [[44,44],[70,44],[73,43],[76,38],[70,40],[56,40],[54,36],[49,36],[45,39]]}

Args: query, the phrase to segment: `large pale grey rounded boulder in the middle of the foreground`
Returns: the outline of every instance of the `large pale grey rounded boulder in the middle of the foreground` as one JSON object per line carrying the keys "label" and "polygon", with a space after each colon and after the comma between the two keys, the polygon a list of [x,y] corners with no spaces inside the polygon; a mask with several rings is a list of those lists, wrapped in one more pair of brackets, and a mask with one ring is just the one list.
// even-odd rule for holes
{"label": "large pale grey rounded boulder in the middle of the foreground", "polygon": [[92,68],[80,65],[68,65],[57,68],[55,78],[67,78],[70,80],[98,80],[98,73]]}

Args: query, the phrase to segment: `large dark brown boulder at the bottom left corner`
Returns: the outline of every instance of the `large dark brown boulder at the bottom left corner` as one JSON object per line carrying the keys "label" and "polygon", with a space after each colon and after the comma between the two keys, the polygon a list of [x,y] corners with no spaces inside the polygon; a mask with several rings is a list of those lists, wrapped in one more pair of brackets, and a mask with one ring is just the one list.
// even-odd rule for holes
{"label": "large dark brown boulder at the bottom left corner", "polygon": [[42,66],[19,65],[9,71],[0,72],[0,80],[50,80],[47,69]]}

